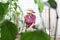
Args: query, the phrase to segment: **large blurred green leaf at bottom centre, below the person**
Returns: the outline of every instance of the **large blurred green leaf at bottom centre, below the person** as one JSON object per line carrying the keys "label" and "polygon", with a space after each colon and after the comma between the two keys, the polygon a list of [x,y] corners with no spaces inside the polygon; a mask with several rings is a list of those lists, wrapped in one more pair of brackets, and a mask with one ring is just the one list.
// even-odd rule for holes
{"label": "large blurred green leaf at bottom centre, below the person", "polygon": [[50,40],[50,36],[43,30],[36,30],[23,33],[20,40]]}

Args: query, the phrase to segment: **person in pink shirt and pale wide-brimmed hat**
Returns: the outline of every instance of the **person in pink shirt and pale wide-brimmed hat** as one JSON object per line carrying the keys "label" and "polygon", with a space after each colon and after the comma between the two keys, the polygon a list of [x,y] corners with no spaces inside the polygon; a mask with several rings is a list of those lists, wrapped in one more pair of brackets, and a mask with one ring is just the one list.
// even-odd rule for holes
{"label": "person in pink shirt and pale wide-brimmed hat", "polygon": [[25,15],[25,22],[26,22],[26,28],[34,28],[35,29],[35,21],[36,16],[34,15],[34,11],[31,9],[27,10],[27,15]]}

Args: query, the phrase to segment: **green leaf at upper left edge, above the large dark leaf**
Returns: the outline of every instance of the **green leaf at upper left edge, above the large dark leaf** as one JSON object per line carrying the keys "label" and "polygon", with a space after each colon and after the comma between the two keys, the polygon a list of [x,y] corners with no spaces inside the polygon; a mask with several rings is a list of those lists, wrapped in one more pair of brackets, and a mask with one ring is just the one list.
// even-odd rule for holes
{"label": "green leaf at upper left edge, above the large dark leaf", "polygon": [[8,12],[8,3],[1,3],[0,2],[0,21],[5,17]]}

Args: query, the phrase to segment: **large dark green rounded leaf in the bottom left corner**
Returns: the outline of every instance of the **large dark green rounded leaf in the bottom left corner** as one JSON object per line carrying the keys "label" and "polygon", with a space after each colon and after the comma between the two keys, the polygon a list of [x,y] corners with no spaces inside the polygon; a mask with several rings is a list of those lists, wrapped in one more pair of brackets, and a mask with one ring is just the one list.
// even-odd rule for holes
{"label": "large dark green rounded leaf in the bottom left corner", "polygon": [[1,25],[1,40],[15,40],[18,33],[17,26],[5,20]]}

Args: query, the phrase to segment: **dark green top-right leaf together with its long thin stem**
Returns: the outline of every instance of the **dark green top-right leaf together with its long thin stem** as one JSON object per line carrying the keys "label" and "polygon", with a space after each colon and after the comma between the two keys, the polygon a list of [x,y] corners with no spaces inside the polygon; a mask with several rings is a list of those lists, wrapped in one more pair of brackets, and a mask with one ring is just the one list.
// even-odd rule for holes
{"label": "dark green top-right leaf together with its long thin stem", "polygon": [[56,40],[57,26],[58,26],[57,3],[55,2],[55,0],[48,0],[48,3],[49,3],[51,8],[56,10],[57,21],[56,21],[55,34],[54,34],[54,40]]}

